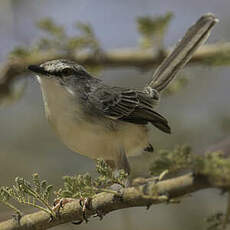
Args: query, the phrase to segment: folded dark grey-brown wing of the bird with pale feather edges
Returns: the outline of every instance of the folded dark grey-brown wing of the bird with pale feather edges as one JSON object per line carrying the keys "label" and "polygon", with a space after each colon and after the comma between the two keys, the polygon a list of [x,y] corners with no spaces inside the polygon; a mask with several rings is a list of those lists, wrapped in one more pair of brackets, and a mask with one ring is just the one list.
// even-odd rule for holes
{"label": "folded dark grey-brown wing of the bird with pale feather edges", "polygon": [[89,94],[88,100],[107,118],[135,124],[151,122],[161,131],[170,133],[168,121],[153,110],[154,101],[144,92],[102,85]]}

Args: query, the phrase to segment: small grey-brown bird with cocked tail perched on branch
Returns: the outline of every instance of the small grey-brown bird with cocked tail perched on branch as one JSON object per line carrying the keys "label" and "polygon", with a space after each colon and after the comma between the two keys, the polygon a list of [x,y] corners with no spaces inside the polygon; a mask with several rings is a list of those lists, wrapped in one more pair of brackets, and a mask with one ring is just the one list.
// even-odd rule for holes
{"label": "small grey-brown bird with cocked tail perched on branch", "polygon": [[141,91],[109,86],[70,60],[51,60],[28,68],[37,74],[46,116],[74,152],[103,158],[113,169],[130,173],[127,156],[153,151],[147,124],[170,133],[166,118],[154,108],[160,91],[207,39],[217,19],[202,16]]}

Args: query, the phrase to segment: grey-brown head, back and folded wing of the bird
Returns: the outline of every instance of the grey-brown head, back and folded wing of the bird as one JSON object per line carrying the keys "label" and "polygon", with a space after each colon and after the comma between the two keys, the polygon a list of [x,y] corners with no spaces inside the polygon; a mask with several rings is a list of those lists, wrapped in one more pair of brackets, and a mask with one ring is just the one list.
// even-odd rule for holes
{"label": "grey-brown head, back and folded wing of the bird", "polygon": [[159,101],[157,91],[150,96],[136,89],[105,85],[82,66],[68,60],[49,61],[40,67],[29,68],[34,72],[55,77],[59,84],[76,93],[86,114],[93,113],[102,118],[134,124],[144,125],[150,122],[161,131],[170,133],[167,120],[153,110]]}

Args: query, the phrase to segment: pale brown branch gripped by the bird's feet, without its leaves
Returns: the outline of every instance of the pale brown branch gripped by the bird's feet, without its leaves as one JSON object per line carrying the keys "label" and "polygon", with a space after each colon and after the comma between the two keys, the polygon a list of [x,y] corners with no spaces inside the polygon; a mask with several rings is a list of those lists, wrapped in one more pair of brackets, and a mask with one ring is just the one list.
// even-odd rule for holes
{"label": "pale brown branch gripped by the bird's feet, without its leaves", "polygon": [[[177,198],[201,189],[212,187],[208,180],[200,175],[188,173],[172,179],[155,183],[154,181],[143,185],[124,189],[121,197],[111,193],[99,193],[91,201],[91,209],[86,216],[103,213],[103,215],[124,208],[149,207],[153,204],[170,202]],[[49,222],[50,216],[45,212],[36,212],[23,216],[20,224],[10,219],[0,223],[1,230],[44,230],[70,221],[82,220],[82,208],[79,200],[67,203],[61,209],[60,217]]]}

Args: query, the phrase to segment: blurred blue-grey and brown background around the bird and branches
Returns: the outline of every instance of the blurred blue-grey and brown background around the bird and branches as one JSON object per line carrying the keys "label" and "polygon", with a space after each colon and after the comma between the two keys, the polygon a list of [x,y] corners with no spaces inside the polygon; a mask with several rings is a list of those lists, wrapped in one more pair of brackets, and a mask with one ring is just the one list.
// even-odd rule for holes
{"label": "blurred blue-grey and brown background around the bird and branches", "polygon": [[[74,34],[76,21],[90,23],[104,50],[130,48],[138,45],[138,16],[156,16],[171,11],[174,14],[165,35],[165,46],[174,45],[201,14],[212,12],[220,19],[209,43],[230,40],[229,0],[1,0],[0,1],[0,61],[7,60],[15,46],[28,46],[41,37],[35,26],[44,17],[51,17]],[[142,87],[153,69],[103,69],[99,75],[110,84]],[[173,148],[189,144],[200,153],[224,140],[230,134],[230,68],[195,66],[183,74],[188,84],[161,100],[158,111],[172,127],[172,135],[152,130],[156,148]],[[20,82],[19,82],[20,84]],[[0,107],[0,185],[11,185],[16,176],[31,178],[38,172],[54,185],[62,183],[63,175],[95,172],[95,163],[68,150],[55,136],[44,115],[41,92],[36,79],[29,75],[22,97]],[[146,172],[145,159],[131,159],[137,174]],[[149,161],[147,161],[149,162]],[[226,197],[218,190],[197,192],[181,204],[157,205],[119,210],[107,215],[102,222],[91,218],[88,224],[65,224],[53,229],[204,229],[204,218],[224,210]],[[31,210],[26,210],[25,213]],[[12,211],[0,204],[0,221],[11,217]]]}

